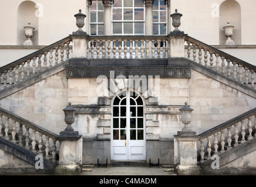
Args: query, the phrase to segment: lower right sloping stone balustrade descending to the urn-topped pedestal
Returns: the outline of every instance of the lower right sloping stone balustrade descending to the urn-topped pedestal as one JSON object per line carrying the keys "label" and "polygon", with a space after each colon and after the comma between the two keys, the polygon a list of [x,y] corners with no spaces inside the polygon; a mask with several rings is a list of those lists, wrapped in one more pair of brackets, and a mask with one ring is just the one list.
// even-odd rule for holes
{"label": "lower right sloping stone balustrade descending to the urn-topped pedestal", "polygon": [[[254,129],[256,129],[256,108],[199,134],[200,162],[204,162],[205,157],[206,160],[210,160],[211,155],[224,153],[226,150],[254,138],[256,133],[252,134],[252,120],[254,120]],[[245,134],[247,135],[245,136]]]}

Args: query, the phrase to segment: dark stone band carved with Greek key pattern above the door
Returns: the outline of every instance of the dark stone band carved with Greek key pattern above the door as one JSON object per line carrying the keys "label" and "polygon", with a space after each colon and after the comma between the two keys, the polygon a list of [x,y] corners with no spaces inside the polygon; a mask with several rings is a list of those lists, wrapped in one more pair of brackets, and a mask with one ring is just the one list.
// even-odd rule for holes
{"label": "dark stone band carved with Greek key pattern above the door", "polygon": [[72,66],[66,67],[67,78],[97,78],[99,75],[110,77],[110,71],[114,71],[115,77],[124,75],[159,75],[160,78],[190,78],[191,68],[188,65],[167,65],[167,66]]}

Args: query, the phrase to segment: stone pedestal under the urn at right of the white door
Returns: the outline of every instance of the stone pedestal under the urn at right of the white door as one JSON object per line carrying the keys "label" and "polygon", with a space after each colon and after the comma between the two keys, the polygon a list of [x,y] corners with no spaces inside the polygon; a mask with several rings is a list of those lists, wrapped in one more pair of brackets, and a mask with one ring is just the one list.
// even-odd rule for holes
{"label": "stone pedestal under the urn at right of the white door", "polygon": [[197,165],[197,141],[194,131],[178,131],[174,136],[177,141],[177,164],[175,171],[177,175],[201,175],[201,168]]}

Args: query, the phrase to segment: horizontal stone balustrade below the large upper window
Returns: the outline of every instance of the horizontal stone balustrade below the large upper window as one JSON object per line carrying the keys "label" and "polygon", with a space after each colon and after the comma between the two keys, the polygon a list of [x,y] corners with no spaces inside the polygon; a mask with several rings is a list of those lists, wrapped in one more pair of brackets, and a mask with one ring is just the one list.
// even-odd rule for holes
{"label": "horizontal stone balustrade below the large upper window", "polygon": [[89,36],[88,57],[168,58],[169,42],[168,36]]}

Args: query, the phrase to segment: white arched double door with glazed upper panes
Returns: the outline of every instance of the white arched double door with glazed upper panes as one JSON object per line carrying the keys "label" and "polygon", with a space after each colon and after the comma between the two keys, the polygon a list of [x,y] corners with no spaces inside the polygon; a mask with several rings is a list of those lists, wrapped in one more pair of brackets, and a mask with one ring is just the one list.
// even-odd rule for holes
{"label": "white arched double door with glazed upper panes", "polygon": [[144,102],[140,93],[124,89],[113,98],[111,159],[146,160]]}

